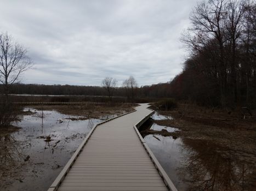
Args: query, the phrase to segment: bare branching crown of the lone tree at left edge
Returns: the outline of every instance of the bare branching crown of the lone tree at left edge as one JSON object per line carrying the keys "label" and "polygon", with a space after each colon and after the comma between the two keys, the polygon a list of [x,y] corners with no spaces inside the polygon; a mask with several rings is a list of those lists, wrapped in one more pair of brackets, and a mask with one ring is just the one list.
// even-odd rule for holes
{"label": "bare branching crown of the lone tree at left edge", "polygon": [[27,50],[13,41],[8,33],[0,34],[0,82],[4,85],[4,94],[8,95],[10,86],[20,74],[32,65]]}

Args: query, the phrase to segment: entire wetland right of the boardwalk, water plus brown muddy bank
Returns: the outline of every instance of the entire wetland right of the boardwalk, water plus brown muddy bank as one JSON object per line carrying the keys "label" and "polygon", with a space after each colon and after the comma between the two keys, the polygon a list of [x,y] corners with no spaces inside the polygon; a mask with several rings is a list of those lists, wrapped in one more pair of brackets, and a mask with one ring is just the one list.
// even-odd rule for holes
{"label": "entire wetland right of the boardwalk, water plus brown muddy bank", "polygon": [[178,190],[254,190],[255,116],[185,107],[152,108],[155,117],[140,129]]}

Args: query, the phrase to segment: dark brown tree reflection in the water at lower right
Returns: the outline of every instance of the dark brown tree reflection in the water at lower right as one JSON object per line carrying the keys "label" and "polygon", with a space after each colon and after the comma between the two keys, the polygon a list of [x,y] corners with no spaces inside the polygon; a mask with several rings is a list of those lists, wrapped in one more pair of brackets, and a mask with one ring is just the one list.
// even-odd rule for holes
{"label": "dark brown tree reflection in the water at lower right", "polygon": [[255,164],[236,151],[207,140],[183,139],[186,153],[178,168],[189,190],[255,190]]}

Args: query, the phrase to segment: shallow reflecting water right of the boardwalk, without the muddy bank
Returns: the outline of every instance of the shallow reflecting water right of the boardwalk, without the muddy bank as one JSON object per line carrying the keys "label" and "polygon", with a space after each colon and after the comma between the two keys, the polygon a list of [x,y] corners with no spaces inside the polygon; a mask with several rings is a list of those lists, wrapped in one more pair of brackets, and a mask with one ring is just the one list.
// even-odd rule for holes
{"label": "shallow reflecting water right of the boardwalk, without the muddy bank", "polygon": [[[255,190],[255,153],[212,140],[173,136],[182,129],[155,123],[167,118],[160,114],[152,118],[155,121],[143,128],[158,133],[143,134],[144,139],[178,190]],[[163,136],[163,129],[172,136]]]}

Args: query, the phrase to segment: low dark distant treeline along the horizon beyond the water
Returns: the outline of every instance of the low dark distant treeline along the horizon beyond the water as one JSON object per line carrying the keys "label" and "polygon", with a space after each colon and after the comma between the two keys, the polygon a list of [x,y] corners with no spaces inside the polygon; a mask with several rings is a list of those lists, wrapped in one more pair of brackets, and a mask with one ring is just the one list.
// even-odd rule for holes
{"label": "low dark distant treeline along the horizon beyond the water", "polygon": [[[3,91],[3,86],[0,86]],[[77,96],[108,96],[104,87],[100,86],[71,86],[71,85],[39,85],[15,83],[10,94],[37,95],[77,95]],[[116,87],[114,97],[127,97],[124,87]],[[135,98],[165,98],[170,96],[170,83],[159,83],[151,86],[135,88]]]}

